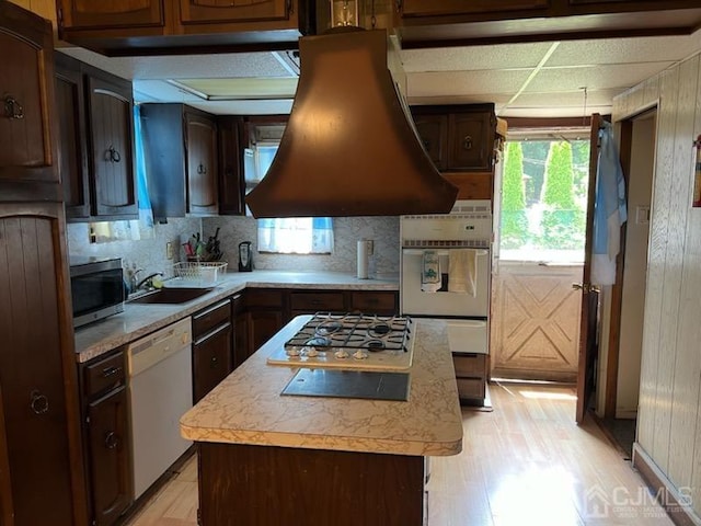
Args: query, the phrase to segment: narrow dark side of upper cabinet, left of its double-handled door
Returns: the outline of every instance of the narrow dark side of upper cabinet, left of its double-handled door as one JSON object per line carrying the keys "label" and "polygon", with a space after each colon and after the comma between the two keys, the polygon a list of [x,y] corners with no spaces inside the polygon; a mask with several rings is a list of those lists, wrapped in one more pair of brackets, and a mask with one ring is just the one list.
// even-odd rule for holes
{"label": "narrow dark side of upper cabinet, left of its double-handled door", "polygon": [[85,99],[80,62],[56,54],[56,110],[58,113],[58,173],[64,183],[68,219],[90,217]]}

